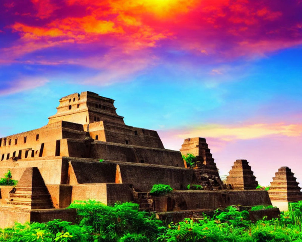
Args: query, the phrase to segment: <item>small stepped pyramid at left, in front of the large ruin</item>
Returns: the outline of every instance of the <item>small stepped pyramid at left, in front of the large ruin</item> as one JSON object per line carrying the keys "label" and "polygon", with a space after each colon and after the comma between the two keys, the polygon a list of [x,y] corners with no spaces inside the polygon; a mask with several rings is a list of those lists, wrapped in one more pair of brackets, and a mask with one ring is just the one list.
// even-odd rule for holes
{"label": "small stepped pyramid at left, in front of the large ruin", "polygon": [[53,208],[50,194],[37,167],[28,167],[9,194],[9,202],[14,207],[28,209]]}

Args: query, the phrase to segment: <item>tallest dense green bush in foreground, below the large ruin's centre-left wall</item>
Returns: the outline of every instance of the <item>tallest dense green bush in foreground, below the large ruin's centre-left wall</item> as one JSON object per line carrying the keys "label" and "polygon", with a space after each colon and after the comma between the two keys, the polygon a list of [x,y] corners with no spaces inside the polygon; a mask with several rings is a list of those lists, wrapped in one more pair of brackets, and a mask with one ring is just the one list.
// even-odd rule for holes
{"label": "tallest dense green bush in foreground, below the large ruin's centre-left wall", "polygon": [[[154,215],[138,210],[138,204],[123,203],[113,207],[97,201],[75,201],[69,208],[75,208],[80,217],[80,226],[91,226],[98,234],[98,241],[136,241],[133,234],[140,234],[142,241],[155,240],[161,230],[162,221]],[[132,234],[132,237],[127,234]],[[152,240],[151,240],[152,239]]]}

